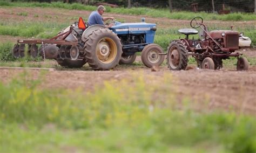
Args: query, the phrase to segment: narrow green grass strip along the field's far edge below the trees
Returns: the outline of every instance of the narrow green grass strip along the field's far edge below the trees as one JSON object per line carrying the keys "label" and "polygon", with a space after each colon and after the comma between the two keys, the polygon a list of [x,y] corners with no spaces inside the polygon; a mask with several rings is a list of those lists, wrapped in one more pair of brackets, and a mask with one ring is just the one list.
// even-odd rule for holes
{"label": "narrow green grass strip along the field's far edge below the trees", "polygon": [[[26,3],[26,2],[0,2],[0,6],[7,7],[42,7],[42,8],[62,8],[69,10],[96,10],[96,6],[83,5],[78,3],[62,3],[62,2],[52,2],[52,3]],[[191,19],[196,16],[202,16],[206,20],[256,20],[256,15],[253,13],[230,13],[228,15],[218,15],[215,13],[206,13],[206,12],[186,12],[186,11],[174,11],[170,13],[169,9],[152,9],[152,8],[110,8],[106,6],[107,12],[113,13],[122,13],[128,15],[146,15],[151,17],[166,17],[171,19]]]}

